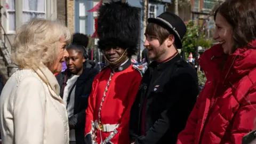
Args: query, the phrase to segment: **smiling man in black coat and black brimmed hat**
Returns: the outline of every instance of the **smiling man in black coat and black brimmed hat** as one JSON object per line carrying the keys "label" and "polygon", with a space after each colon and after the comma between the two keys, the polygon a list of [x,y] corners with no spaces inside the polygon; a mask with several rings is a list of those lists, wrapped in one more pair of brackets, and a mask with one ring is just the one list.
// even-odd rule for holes
{"label": "smiling man in black coat and black brimmed hat", "polygon": [[198,94],[197,73],[177,52],[186,30],[173,13],[148,19],[144,46],[153,62],[131,109],[130,137],[135,144],[176,143],[185,128]]}

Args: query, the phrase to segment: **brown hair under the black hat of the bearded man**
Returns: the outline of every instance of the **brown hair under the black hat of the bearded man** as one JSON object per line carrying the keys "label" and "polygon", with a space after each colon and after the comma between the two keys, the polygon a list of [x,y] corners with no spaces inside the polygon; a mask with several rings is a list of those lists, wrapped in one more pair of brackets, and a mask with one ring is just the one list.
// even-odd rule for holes
{"label": "brown hair under the black hat of the bearded man", "polygon": [[145,35],[156,37],[161,45],[171,33],[156,23],[148,23]]}

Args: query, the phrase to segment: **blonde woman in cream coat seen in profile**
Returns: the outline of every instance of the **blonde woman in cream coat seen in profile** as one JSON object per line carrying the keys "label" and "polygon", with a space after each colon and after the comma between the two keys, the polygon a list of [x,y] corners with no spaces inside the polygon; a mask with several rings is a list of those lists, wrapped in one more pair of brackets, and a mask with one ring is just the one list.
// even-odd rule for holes
{"label": "blonde woman in cream coat seen in profile", "polygon": [[14,39],[13,60],[19,65],[0,97],[3,143],[69,143],[66,107],[54,77],[68,57],[67,27],[35,19],[21,26]]}

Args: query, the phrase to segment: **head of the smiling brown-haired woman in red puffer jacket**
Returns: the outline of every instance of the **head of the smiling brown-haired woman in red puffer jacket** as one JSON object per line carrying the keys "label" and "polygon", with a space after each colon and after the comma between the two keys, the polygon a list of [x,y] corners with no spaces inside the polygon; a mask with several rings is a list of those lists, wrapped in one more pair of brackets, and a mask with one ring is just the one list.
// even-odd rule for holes
{"label": "head of the smiling brown-haired woman in red puffer jacket", "polygon": [[[213,38],[219,40],[223,49],[230,49],[229,54],[235,52],[239,47],[254,49],[254,46],[248,43],[256,39],[256,19],[252,17],[255,0],[246,0],[245,2],[248,2],[248,5],[241,6],[242,2],[227,1],[226,3],[229,5],[231,3],[236,5],[227,7],[226,4],[222,4],[214,15],[217,29]],[[239,11],[236,10],[238,7]]]}

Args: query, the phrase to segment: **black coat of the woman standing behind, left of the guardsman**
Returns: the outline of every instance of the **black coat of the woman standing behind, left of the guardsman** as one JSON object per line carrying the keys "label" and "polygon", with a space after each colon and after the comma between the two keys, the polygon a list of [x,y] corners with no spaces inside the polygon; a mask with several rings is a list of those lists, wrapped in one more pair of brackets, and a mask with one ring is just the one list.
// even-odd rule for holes
{"label": "black coat of the woman standing behind, left of the guardsman", "polygon": [[[69,129],[75,129],[76,143],[85,144],[84,142],[84,128],[85,128],[85,109],[88,106],[89,94],[92,90],[92,82],[99,73],[98,66],[93,62],[87,60],[84,62],[84,69],[82,74],[77,78],[75,89],[75,105],[74,115],[69,118]],[[63,87],[65,87],[67,80],[71,73],[67,69],[56,76],[60,85],[60,97],[63,97]],[[65,81],[66,77],[66,81]],[[64,88],[65,89],[65,88]],[[68,97],[70,97],[71,92]]]}

